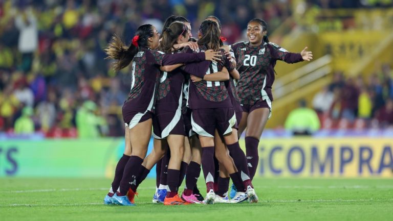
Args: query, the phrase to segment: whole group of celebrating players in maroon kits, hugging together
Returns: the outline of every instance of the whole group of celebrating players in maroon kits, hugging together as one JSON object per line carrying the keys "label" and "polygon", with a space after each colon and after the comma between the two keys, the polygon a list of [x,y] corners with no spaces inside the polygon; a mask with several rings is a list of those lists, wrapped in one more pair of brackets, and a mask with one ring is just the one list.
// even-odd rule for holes
{"label": "whole group of celebrating players in maroon kits, hugging together", "polygon": [[[247,37],[224,45],[220,20],[209,16],[193,38],[186,18],[170,16],[161,35],[143,24],[129,45],[112,38],[107,58],[115,60],[115,70],[129,66],[132,83],[122,107],[125,150],[104,204],[134,206],[138,186],[156,164],[154,203],[258,202],[252,179],[272,111],[274,66],[277,60],[310,61],[312,53],[307,47],[290,53],[269,42],[259,18],[249,21]],[[238,142],[244,130],[246,154]],[[154,149],[146,156],[151,131]],[[205,198],[197,188],[201,165]]]}

